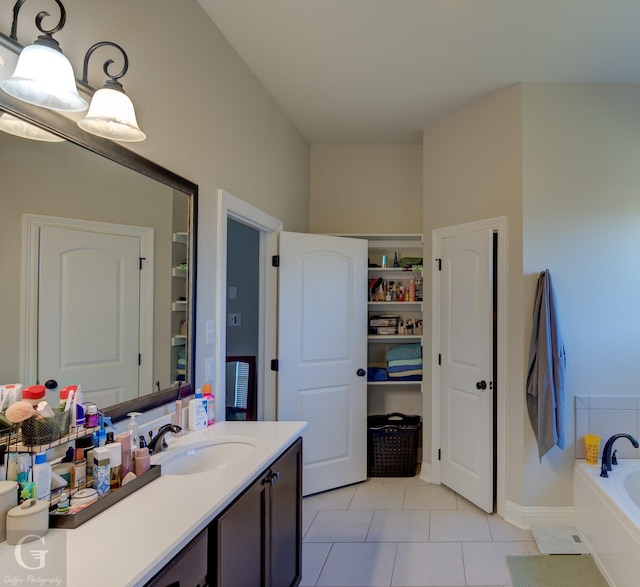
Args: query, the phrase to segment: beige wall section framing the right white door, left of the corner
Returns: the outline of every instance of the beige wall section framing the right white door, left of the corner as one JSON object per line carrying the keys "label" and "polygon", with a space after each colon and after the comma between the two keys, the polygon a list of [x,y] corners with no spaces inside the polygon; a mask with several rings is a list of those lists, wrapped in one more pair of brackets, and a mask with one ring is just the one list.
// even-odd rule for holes
{"label": "beige wall section framing the right white door, left of the corner", "polygon": [[[499,216],[507,217],[508,328],[507,499],[522,497],[522,133],[520,86],[510,87],[424,130],[425,258],[433,258],[431,234],[441,228]],[[425,295],[431,299],[431,271],[424,272]],[[432,324],[425,304],[425,324]],[[430,337],[425,357],[433,356]],[[431,414],[431,362],[424,362],[424,415]],[[425,435],[425,460],[430,443]]]}

